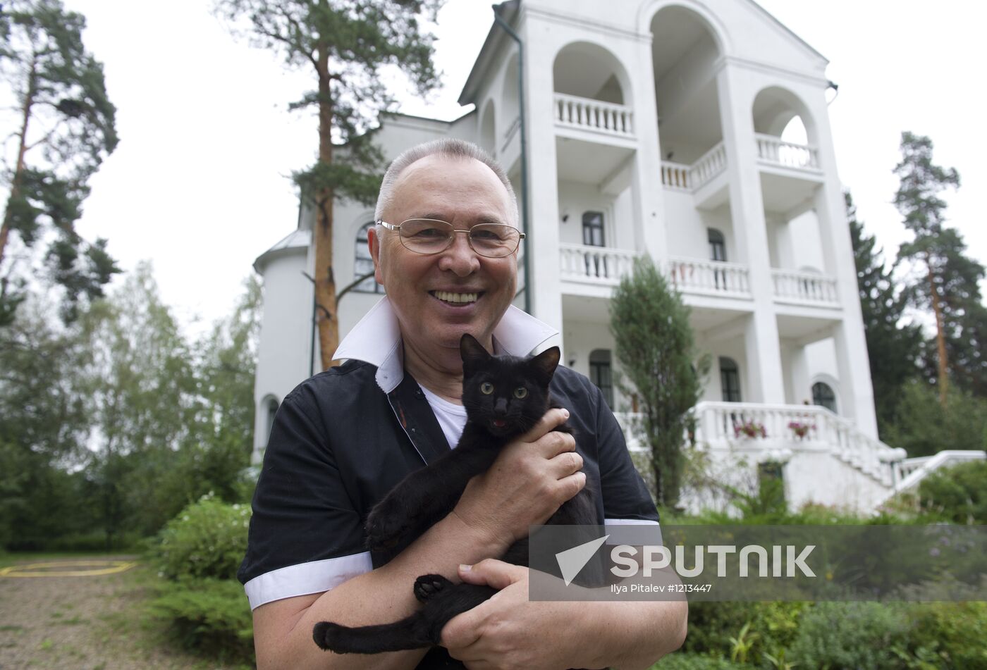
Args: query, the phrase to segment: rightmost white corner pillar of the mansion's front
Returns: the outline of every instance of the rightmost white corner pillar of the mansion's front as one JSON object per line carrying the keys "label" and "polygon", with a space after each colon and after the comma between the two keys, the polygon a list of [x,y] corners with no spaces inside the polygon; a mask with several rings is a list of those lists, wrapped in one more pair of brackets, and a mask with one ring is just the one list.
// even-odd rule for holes
{"label": "rightmost white corner pillar of the mansion's front", "polygon": [[857,266],[850,241],[843,189],[836,172],[836,153],[833,150],[829,117],[821,93],[810,111],[815,125],[815,138],[810,138],[809,141],[818,145],[819,164],[825,173],[825,181],[816,190],[814,201],[825,262],[823,269],[836,277],[836,291],[840,305],[843,306],[843,319],[833,328],[840,375],[840,410],[853,418],[864,433],[876,437],[877,418],[873,408],[871,364],[857,286]]}

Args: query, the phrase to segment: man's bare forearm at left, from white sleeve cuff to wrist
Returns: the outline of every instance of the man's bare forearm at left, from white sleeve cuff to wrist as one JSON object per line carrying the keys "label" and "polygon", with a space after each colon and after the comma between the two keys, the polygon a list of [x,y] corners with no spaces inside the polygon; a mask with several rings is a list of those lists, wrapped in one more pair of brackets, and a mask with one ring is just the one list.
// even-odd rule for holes
{"label": "man's bare forearm at left, from white sleeve cuff to wrist", "polygon": [[[412,592],[418,575],[434,572],[455,579],[460,563],[477,562],[503,551],[493,539],[449,515],[387,565],[349,579],[315,597],[311,603],[300,602],[297,612],[285,611],[286,604],[279,606],[279,602],[258,608],[255,611],[258,667],[262,670],[414,668],[423,650],[337,655],[316,646],[312,629],[321,621],[345,626],[400,621],[418,608]],[[269,609],[265,611],[265,608]]]}

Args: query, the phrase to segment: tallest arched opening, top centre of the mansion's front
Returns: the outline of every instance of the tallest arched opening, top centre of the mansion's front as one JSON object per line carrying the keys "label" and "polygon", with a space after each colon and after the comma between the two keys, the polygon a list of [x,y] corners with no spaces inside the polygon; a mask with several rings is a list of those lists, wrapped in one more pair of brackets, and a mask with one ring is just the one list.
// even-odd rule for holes
{"label": "tallest arched opening, top centre of the mansion's front", "polygon": [[691,167],[721,143],[716,77],[720,56],[717,37],[697,13],[672,6],[651,19],[651,65],[663,162]]}

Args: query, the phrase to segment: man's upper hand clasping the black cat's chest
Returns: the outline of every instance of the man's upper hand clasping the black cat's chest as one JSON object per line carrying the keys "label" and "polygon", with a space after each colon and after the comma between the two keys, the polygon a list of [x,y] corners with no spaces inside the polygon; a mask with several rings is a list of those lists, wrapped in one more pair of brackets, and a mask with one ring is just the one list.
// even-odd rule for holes
{"label": "man's upper hand clasping the black cat's chest", "polygon": [[491,469],[470,480],[453,514],[489,533],[506,550],[528,536],[586,484],[575,438],[554,428],[568,409],[549,409],[534,428],[508,444]]}

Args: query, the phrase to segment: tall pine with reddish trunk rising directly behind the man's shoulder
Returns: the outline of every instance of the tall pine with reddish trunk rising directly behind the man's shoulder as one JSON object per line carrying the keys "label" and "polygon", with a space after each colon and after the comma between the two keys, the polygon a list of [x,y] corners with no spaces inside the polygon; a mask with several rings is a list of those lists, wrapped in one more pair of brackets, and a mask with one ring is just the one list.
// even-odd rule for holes
{"label": "tall pine with reddish trunk rising directly behind the man's shoulder", "polygon": [[333,201],[370,204],[380,186],[382,156],[368,131],[393,101],[382,83],[385,66],[399,66],[424,94],[437,84],[431,62],[431,21],[441,0],[216,0],[220,14],[246,19],[254,42],[283,54],[290,67],[311,67],[316,90],[291,109],[315,108],[319,117],[316,163],[296,173],[302,196],[316,210],[315,298],[319,306],[322,366],[339,344],[333,273]]}

